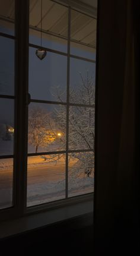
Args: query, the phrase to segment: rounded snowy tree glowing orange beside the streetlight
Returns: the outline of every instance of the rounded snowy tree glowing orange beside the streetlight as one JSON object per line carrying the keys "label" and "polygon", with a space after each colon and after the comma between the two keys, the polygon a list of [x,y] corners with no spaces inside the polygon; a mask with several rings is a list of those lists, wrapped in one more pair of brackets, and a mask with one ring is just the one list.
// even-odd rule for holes
{"label": "rounded snowy tree glowing orange beside the streetlight", "polygon": [[28,143],[33,145],[35,152],[39,147],[47,147],[56,140],[53,129],[54,122],[44,109],[31,108],[28,113]]}

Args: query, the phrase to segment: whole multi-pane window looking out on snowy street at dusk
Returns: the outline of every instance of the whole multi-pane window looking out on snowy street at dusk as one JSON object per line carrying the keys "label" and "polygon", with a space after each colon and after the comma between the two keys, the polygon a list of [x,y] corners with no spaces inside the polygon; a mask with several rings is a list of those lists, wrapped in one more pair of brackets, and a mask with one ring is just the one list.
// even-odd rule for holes
{"label": "whole multi-pane window looking out on snowy street at dusk", "polygon": [[[18,202],[26,211],[94,191],[96,18],[55,1],[30,0],[24,87],[17,67],[22,63],[15,45],[14,1],[8,3],[0,14],[0,208],[14,208]],[[46,51],[42,60],[37,50]],[[15,81],[15,75],[20,79]],[[20,89],[26,103],[19,103]],[[22,104],[24,121],[17,115]]]}

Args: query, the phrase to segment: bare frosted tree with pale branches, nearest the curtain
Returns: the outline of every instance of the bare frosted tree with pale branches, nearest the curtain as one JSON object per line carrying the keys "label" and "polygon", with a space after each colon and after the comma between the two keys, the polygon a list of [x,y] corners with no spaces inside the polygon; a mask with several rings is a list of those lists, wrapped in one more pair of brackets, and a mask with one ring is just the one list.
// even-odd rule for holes
{"label": "bare frosted tree with pale branches, nearest the curtain", "polygon": [[[71,153],[69,159],[77,160],[74,172],[84,172],[87,176],[93,175],[94,172],[94,103],[95,103],[95,85],[94,78],[88,74],[81,77],[81,84],[75,86],[70,91],[69,102],[80,103],[87,106],[70,106],[69,107],[69,150],[91,150],[92,152]],[[63,94],[61,94],[63,95]],[[63,102],[61,95],[58,99]],[[60,130],[65,134],[65,116],[66,108],[56,110],[56,119],[59,123]],[[61,138],[62,146],[66,143],[66,137]]]}

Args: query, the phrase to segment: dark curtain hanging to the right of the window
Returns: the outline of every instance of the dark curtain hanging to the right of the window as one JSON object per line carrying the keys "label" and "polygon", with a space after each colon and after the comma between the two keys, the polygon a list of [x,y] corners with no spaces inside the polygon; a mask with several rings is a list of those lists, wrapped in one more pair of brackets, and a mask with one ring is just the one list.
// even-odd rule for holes
{"label": "dark curtain hanging to the right of the window", "polygon": [[96,255],[139,249],[139,10],[137,0],[98,1]]}

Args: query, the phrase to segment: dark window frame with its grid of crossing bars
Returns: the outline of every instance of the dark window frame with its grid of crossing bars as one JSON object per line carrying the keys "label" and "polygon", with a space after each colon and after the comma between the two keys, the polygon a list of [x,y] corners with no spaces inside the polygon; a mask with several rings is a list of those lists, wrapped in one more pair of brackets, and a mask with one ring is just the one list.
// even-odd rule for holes
{"label": "dark window frame with its grid of crossing bars", "polygon": [[[57,1],[56,1],[57,2]],[[93,193],[77,195],[75,197],[68,198],[68,153],[79,152],[79,151],[91,151],[91,150],[68,150],[68,143],[66,143],[66,198],[63,200],[53,201],[50,203],[39,204],[32,207],[27,207],[27,157],[35,154],[27,152],[27,138],[28,138],[28,49],[29,47],[38,48],[40,46],[33,45],[29,42],[29,4],[30,1],[18,1],[15,0],[15,150],[14,150],[14,188],[13,188],[13,200],[14,206],[10,208],[4,208],[0,210],[1,219],[10,219],[12,217],[24,216],[33,212],[40,212],[44,210],[51,210],[65,205],[71,205],[86,201],[88,199],[93,200]],[[82,61],[89,61],[96,63],[93,59],[87,59],[70,53],[70,42],[71,42],[71,10],[78,11],[75,8],[65,5],[68,8],[68,52],[61,53],[57,50],[46,49],[49,52],[55,52],[67,57],[67,122],[66,122],[66,137],[68,138],[68,109],[69,106],[88,106],[76,103],[69,103],[69,74],[70,74],[70,58],[81,59]],[[81,11],[79,11],[81,12]],[[81,12],[85,14],[84,12]],[[85,14],[87,15],[87,14]],[[91,15],[89,15],[91,17]],[[92,17],[94,18],[94,17]],[[22,31],[22,33],[21,33]],[[7,35],[5,35],[7,36]],[[21,62],[23,59],[23,62]],[[20,86],[18,86],[20,84]],[[31,102],[42,102],[42,100],[31,99]],[[60,104],[60,102],[49,102],[45,103]],[[67,139],[68,141],[68,139]],[[20,143],[19,143],[20,142]],[[59,151],[53,152],[58,154]],[[37,153],[41,155],[43,153]],[[50,154],[46,152],[46,154]],[[52,154],[52,152],[51,152]],[[1,157],[2,158],[2,157]],[[22,165],[21,165],[22,163]]]}

